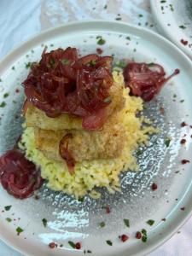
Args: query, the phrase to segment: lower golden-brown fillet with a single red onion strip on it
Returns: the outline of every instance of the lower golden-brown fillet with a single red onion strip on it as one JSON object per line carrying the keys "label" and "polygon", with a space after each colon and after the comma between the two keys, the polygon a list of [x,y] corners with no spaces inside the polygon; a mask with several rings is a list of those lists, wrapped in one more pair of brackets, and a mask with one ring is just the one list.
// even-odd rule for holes
{"label": "lower golden-brown fillet with a single red onion strip on it", "polygon": [[118,157],[124,147],[125,129],[119,124],[119,113],[113,113],[102,131],[46,131],[35,128],[36,146],[50,160],[63,161],[59,152],[62,137],[67,134],[68,151],[77,162]]}

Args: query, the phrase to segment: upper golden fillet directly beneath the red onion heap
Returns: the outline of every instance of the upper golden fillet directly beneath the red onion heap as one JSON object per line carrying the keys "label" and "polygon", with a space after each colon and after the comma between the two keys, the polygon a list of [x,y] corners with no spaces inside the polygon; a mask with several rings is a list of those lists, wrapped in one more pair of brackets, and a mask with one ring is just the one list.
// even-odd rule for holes
{"label": "upper golden fillet directly beneath the red onion heap", "polygon": [[[124,84],[113,82],[110,87],[109,94],[112,102],[108,105],[107,115],[108,117],[115,111],[119,111],[124,107],[125,100],[123,97]],[[44,130],[83,130],[82,119],[73,117],[67,113],[62,113],[59,117],[49,118],[44,111],[33,107],[31,104],[26,110],[26,126],[27,127],[38,127]]]}

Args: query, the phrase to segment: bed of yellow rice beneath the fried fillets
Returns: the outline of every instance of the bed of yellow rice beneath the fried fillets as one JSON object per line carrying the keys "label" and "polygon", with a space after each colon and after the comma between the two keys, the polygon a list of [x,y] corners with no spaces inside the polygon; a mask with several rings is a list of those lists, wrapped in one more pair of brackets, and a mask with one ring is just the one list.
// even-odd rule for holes
{"label": "bed of yellow rice beneath the fried fillets", "polygon": [[[113,72],[115,83],[124,84],[122,73]],[[105,187],[110,193],[120,190],[119,173],[127,170],[138,171],[137,159],[133,152],[138,146],[148,143],[148,134],[156,132],[152,126],[143,126],[146,119],[138,118],[137,113],[143,110],[143,100],[129,96],[129,89],[124,89],[125,108],[121,110],[121,123],[125,125],[126,141],[122,154],[116,159],[84,160],[77,163],[73,175],[63,162],[49,160],[35,147],[32,127],[25,129],[20,148],[25,149],[26,158],[32,160],[41,169],[41,175],[48,180],[48,187],[53,190],[75,195],[77,198],[89,194],[100,197],[96,187]],[[146,122],[145,122],[146,123]]]}

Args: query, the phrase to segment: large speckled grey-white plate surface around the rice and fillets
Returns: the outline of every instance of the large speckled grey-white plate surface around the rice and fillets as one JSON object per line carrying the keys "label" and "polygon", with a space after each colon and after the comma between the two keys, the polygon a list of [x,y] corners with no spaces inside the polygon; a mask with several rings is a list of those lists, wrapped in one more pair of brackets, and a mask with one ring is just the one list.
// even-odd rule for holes
{"label": "large speckled grey-white plate surface around the rice and fillets", "polygon": [[[6,56],[0,63],[0,154],[12,148],[20,136],[24,99],[20,83],[28,73],[27,63],[39,60],[45,44],[49,49],[78,47],[82,55],[96,52],[98,35],[106,40],[99,46],[105,55],[113,54],[116,60],[158,62],[168,74],[175,68],[181,73],[146,104],[144,114],[154,120],[160,133],[150,138],[148,148],[141,148],[140,172],[121,175],[121,193],[108,195],[103,189],[101,199],[85,197],[82,202],[44,186],[38,200],[20,201],[0,188],[0,237],[26,255],[145,255],[172,236],[192,211],[191,164],[181,164],[183,159],[190,160],[192,151],[192,64],[172,43],[141,27],[113,21],[73,23],[44,32]],[[188,125],[181,127],[183,121]],[[181,145],[183,137],[187,142]],[[155,191],[152,183],[158,185]],[[5,206],[12,207],[6,211]],[[43,218],[48,220],[47,227]],[[129,228],[125,218],[130,221]],[[153,226],[146,224],[148,219],[154,219]],[[102,221],[106,224],[103,228],[99,226]],[[18,227],[24,230],[20,236]],[[142,229],[148,231],[145,243],[135,238]],[[130,237],[125,243],[119,240],[122,234]],[[50,241],[58,247],[50,249]],[[77,251],[68,241],[80,241],[82,248]]]}

